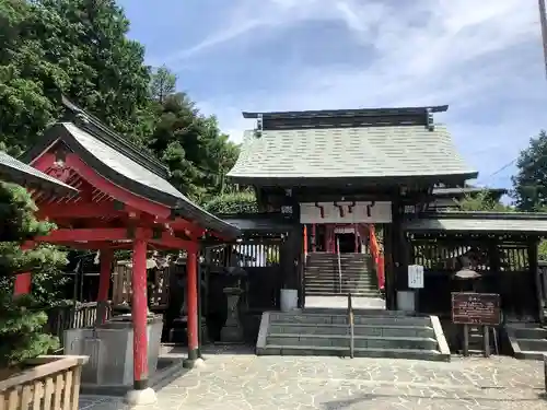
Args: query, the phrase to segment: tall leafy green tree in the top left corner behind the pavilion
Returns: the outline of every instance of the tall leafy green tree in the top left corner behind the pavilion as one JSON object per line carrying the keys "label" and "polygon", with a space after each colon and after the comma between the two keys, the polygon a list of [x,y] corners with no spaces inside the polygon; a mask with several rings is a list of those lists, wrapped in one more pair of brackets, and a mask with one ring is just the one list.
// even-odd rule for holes
{"label": "tall leafy green tree in the top left corner behind the pavilion", "polygon": [[142,144],[150,69],[128,31],[114,0],[0,0],[3,148],[32,147],[58,118],[61,93]]}

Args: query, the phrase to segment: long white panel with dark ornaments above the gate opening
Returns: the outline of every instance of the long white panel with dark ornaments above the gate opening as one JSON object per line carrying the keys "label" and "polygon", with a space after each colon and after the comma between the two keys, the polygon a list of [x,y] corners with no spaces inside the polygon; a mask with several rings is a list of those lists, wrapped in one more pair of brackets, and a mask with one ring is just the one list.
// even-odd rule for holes
{"label": "long white panel with dark ornaments above the gate opening", "polygon": [[300,203],[300,223],[391,223],[392,202],[340,201]]}

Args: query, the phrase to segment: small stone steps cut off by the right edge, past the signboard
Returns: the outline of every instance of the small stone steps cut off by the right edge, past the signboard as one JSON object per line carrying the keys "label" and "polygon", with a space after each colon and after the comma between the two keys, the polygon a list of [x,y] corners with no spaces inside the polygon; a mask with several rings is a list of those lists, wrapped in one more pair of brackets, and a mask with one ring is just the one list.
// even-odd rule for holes
{"label": "small stone steps cut off by the right edge, past the signboard", "polygon": [[547,354],[547,328],[540,324],[507,324],[505,332],[516,359],[543,360]]}

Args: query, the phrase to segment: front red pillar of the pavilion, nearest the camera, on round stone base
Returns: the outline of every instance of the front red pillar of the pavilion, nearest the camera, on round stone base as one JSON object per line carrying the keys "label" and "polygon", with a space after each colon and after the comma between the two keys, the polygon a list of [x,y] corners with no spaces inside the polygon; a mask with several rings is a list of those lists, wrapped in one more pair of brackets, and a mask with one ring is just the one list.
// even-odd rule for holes
{"label": "front red pillar of the pavilion, nearest the camera, on round stone base", "polygon": [[133,321],[133,388],[148,388],[148,336],[147,336],[147,242],[133,241],[132,305]]}

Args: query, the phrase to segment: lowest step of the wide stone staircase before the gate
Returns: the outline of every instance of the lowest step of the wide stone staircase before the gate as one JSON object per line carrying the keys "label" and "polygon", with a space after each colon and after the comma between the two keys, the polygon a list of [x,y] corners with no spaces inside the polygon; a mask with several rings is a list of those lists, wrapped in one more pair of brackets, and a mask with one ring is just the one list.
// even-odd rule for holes
{"label": "lowest step of the wide stone staircase before the gate", "polygon": [[[450,354],[442,354],[437,350],[412,350],[412,349],[354,349],[356,358],[387,358],[410,359],[450,362]],[[310,345],[279,345],[266,344],[265,348],[256,349],[257,355],[294,355],[294,356],[349,356],[349,348]]]}

